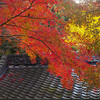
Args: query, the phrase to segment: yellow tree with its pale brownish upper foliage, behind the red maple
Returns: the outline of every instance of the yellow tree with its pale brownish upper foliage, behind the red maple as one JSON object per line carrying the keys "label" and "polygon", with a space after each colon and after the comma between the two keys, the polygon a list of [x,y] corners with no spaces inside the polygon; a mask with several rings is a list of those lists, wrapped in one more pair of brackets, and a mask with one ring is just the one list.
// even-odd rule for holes
{"label": "yellow tree with its pale brownish upper foliage, behind the red maple", "polygon": [[[67,33],[64,40],[67,43],[85,45],[88,51],[93,49],[95,53],[99,54],[100,10],[93,1],[87,0],[84,1],[84,4],[75,4],[73,0],[63,0],[58,6],[54,6],[54,11],[57,15],[59,14],[60,19],[67,20],[66,25],[63,24]],[[75,46],[77,47],[77,45]]]}

